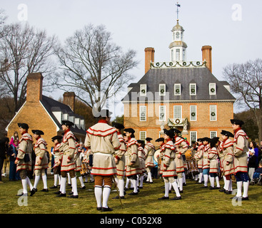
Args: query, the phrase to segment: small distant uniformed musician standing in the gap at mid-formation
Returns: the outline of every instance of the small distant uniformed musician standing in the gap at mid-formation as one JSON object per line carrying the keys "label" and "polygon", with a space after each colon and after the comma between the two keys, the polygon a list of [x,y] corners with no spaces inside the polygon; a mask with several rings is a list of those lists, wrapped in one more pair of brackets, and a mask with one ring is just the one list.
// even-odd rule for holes
{"label": "small distant uniformed musician standing in the gap at mid-formation", "polygon": [[147,173],[147,178],[146,182],[148,183],[153,183],[152,180],[152,175],[151,175],[151,168],[154,166],[153,165],[153,154],[155,152],[155,147],[151,143],[152,138],[146,138],[146,145],[144,146],[143,150],[145,152],[145,164],[146,164],[146,173]]}

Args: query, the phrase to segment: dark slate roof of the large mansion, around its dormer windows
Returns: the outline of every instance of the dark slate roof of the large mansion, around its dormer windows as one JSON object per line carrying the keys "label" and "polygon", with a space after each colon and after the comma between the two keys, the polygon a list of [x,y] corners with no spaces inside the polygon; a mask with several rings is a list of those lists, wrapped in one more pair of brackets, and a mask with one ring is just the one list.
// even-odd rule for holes
{"label": "dark slate roof of the large mansion, around its dormer windows", "polygon": [[[166,84],[166,95],[159,95],[159,84]],[[181,83],[181,95],[174,95],[174,83]],[[196,83],[196,95],[189,95],[189,84]],[[216,95],[209,95],[209,83],[216,83]],[[130,87],[129,93],[123,98],[123,102],[131,101],[131,93],[140,92],[140,85],[146,84],[146,101],[170,100],[179,101],[208,101],[225,100],[234,101],[236,98],[224,87],[225,81],[218,81],[206,67],[198,68],[151,68],[135,85]],[[153,93],[153,98],[148,98],[148,92]],[[156,93],[155,93],[156,92]],[[138,94],[137,100],[143,100],[145,96]],[[134,100],[132,100],[134,101]]]}

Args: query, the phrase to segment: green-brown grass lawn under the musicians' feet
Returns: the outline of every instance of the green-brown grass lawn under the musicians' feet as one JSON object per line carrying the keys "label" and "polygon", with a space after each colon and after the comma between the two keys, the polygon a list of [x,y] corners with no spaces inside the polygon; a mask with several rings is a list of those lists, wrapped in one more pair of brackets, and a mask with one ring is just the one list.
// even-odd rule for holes
{"label": "green-brown grass lawn under the musicians' feet", "polygon": [[[48,186],[54,184],[54,177],[48,175]],[[183,187],[181,200],[158,200],[163,194],[163,181],[154,180],[153,184],[144,183],[143,189],[138,195],[126,195],[122,199],[112,199],[117,195],[113,187],[109,197],[109,207],[113,212],[100,212],[96,210],[94,197],[94,183],[86,183],[86,190],[79,190],[78,199],[68,197],[56,197],[56,190],[49,192],[36,192],[33,197],[26,197],[24,201],[16,194],[21,190],[21,181],[9,181],[3,179],[0,184],[0,213],[1,214],[261,214],[262,212],[262,187],[250,185],[249,200],[236,202],[230,199],[233,195],[226,195],[218,190],[201,188],[193,180],[186,180]],[[31,180],[34,184],[34,180]],[[78,180],[78,187],[80,182]],[[223,182],[221,181],[221,187]],[[43,188],[40,180],[38,190]],[[233,182],[233,189],[236,183]],[[68,193],[71,188],[66,188]],[[127,191],[128,194],[131,190]],[[173,197],[174,193],[170,193]],[[24,204],[19,206],[19,204]],[[27,204],[27,205],[25,205]]]}

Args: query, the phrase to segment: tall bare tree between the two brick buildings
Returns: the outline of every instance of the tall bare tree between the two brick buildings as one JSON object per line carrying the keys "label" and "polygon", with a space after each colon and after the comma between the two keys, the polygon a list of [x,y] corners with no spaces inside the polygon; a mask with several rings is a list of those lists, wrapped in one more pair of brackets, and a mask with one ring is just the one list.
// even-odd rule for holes
{"label": "tall bare tree between the two brick buildings", "polygon": [[[112,43],[105,26],[84,26],[56,48],[62,72],[54,82],[62,90],[73,90],[91,108],[102,108],[133,79],[128,71],[137,66],[135,51],[123,53]],[[58,79],[59,78],[59,79]]]}

